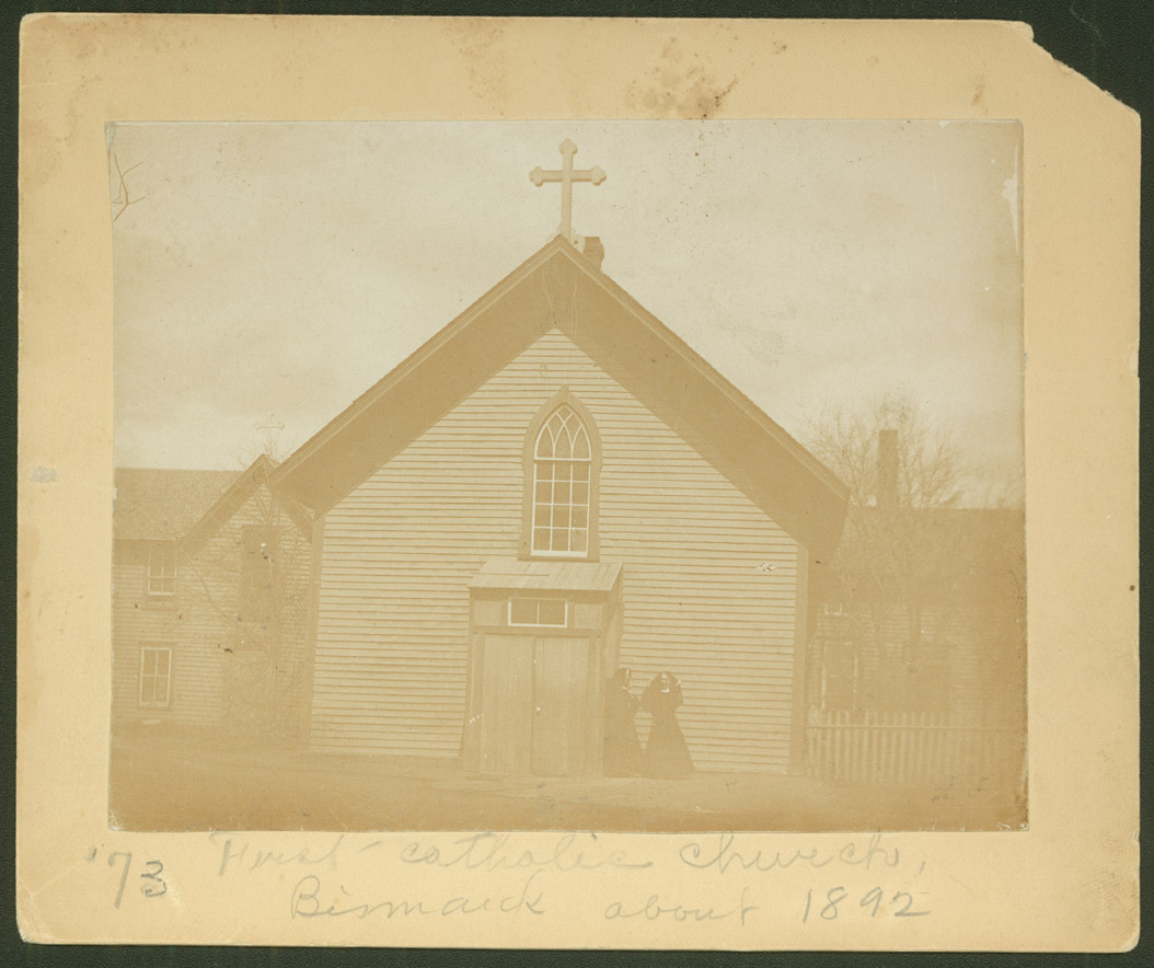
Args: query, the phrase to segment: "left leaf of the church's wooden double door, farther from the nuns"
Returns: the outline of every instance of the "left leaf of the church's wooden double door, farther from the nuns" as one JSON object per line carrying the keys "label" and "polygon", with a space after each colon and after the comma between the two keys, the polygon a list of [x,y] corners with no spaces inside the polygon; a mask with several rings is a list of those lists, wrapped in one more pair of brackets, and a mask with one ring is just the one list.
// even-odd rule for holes
{"label": "left leaf of the church's wooden double door, farther from the nuns", "polygon": [[481,685],[480,768],[529,773],[533,749],[533,639],[488,635]]}

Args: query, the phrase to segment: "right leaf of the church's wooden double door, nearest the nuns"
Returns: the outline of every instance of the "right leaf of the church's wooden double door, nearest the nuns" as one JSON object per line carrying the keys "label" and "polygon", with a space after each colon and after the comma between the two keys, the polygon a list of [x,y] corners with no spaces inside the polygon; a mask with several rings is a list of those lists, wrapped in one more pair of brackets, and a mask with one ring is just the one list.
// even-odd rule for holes
{"label": "right leaf of the church's wooden double door, nearest the nuns", "polygon": [[593,701],[587,638],[539,637],[533,645],[533,772],[564,776],[586,770]]}

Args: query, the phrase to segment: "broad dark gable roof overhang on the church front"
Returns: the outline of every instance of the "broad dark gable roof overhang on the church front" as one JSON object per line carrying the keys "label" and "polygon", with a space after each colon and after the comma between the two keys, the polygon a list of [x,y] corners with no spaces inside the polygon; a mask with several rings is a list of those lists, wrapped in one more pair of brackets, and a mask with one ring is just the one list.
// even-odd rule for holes
{"label": "broad dark gable roof overhang on the church front", "polygon": [[554,328],[810,551],[837,543],[845,486],[560,235],[306,441],[275,482],[323,513]]}

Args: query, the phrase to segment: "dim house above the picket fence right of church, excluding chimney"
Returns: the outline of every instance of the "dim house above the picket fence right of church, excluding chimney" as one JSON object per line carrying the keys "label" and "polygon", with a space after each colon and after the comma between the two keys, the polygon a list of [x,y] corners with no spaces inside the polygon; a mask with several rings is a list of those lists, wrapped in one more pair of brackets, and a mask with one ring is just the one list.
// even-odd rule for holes
{"label": "dim house above the picket fence right of church, excluding chimney", "polygon": [[[891,520],[886,520],[890,517]],[[1025,516],[957,508],[847,524],[814,637],[811,703],[822,710],[934,713],[956,725],[1025,718]],[[902,530],[921,546],[916,581],[886,571],[871,535]],[[868,583],[838,561],[872,554]]]}

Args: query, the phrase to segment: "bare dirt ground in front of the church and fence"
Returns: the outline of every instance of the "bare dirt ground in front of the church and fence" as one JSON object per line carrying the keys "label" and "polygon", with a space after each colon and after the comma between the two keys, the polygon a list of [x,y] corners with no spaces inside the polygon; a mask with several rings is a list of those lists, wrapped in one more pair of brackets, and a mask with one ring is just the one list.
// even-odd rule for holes
{"label": "bare dirt ground in front of the church and fence", "polygon": [[111,746],[122,830],[886,831],[1018,827],[996,789],[826,787],[802,775],[496,778],[456,760],[330,756],[135,730]]}

